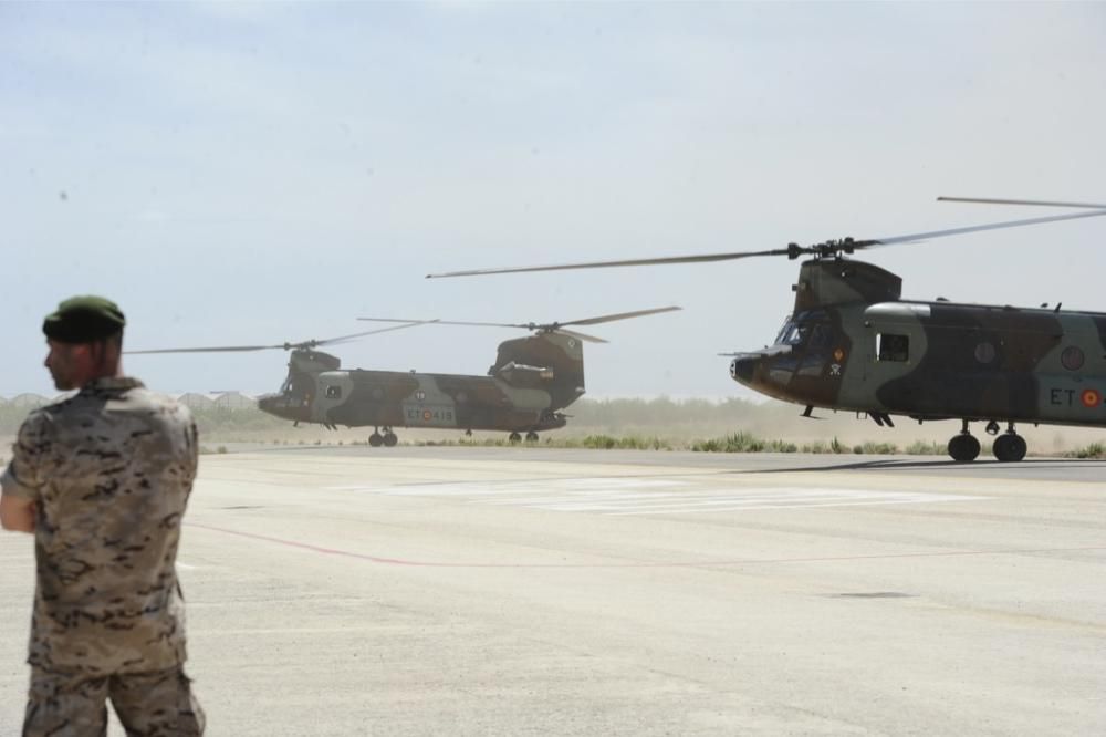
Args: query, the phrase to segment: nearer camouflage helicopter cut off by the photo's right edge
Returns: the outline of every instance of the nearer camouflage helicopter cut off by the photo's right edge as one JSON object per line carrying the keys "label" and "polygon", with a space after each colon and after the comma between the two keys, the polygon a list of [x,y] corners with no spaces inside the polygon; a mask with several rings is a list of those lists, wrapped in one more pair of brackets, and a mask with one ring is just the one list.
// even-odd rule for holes
{"label": "nearer camouflage helicopter cut off by the photo's right edge", "polygon": [[[941,198],[951,201],[1081,207],[1091,211],[952,228],[890,238],[843,238],[812,246],[731,253],[480,269],[427,278],[727,261],[761,256],[807,257],[792,287],[795,302],[771,346],[733,356],[730,375],[768,396],[856,412],[879,426],[891,415],[919,423],[959,419],[948,444],[957,461],[974,460],[970,424],[997,436],[995,458],[1026,453],[1016,423],[1106,426],[1106,313],[902,300],[902,280],[848,259],[858,250],[984,230],[1106,215],[1106,205],[1043,200]],[[1005,423],[1006,428],[1000,435]]]}

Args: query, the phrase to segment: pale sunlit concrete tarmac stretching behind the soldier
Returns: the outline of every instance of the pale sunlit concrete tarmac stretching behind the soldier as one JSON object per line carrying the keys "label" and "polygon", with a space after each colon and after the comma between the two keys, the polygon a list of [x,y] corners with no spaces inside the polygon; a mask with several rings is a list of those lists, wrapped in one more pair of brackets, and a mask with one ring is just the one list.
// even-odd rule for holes
{"label": "pale sunlit concrete tarmac stretching behind the soldier", "polygon": [[[1103,735],[1106,464],[204,456],[209,735]],[[32,541],[0,536],[0,735]],[[112,734],[122,735],[117,727]]]}

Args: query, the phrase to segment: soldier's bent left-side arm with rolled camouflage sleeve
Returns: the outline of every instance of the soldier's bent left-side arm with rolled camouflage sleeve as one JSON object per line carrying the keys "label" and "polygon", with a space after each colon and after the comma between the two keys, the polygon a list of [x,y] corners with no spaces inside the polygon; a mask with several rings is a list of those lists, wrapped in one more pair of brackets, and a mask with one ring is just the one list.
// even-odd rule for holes
{"label": "soldier's bent left-side arm with rolled camouflage sleeve", "polygon": [[6,530],[34,532],[50,435],[49,421],[39,413],[32,413],[19,428],[11,463],[0,476],[0,527]]}

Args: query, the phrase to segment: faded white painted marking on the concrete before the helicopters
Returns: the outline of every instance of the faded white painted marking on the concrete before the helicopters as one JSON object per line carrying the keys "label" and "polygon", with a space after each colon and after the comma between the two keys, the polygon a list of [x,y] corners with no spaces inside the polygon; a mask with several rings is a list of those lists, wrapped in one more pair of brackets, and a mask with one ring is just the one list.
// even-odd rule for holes
{"label": "faded white painted marking on the concrete before the helicopters", "polygon": [[474,505],[525,507],[546,511],[589,512],[619,517],[938,504],[989,498],[889,489],[789,486],[726,488],[716,486],[717,481],[714,484],[711,481],[712,479],[701,477],[685,479],[596,477],[327,488],[331,490],[367,491],[392,497],[453,497],[467,499]]}

